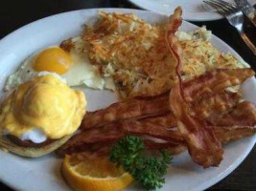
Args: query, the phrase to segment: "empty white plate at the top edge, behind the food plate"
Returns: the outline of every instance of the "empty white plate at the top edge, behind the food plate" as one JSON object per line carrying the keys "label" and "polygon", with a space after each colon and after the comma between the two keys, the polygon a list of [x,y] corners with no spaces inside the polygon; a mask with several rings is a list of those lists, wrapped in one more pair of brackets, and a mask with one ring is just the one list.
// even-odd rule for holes
{"label": "empty white plate at the top edge, behind the food plate", "polygon": [[[188,21],[210,21],[221,19],[222,16],[215,11],[209,11],[202,0],[128,0],[132,4],[149,11],[169,15],[177,6],[181,6],[184,14],[183,19]],[[234,3],[232,0],[226,2]],[[255,0],[248,0],[251,5]]]}

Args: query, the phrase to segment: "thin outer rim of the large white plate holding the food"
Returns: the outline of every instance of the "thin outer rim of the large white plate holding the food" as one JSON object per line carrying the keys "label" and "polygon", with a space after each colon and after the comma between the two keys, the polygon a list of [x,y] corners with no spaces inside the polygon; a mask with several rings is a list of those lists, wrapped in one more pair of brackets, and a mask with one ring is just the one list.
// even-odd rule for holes
{"label": "thin outer rim of the large white plate holding the food", "polygon": [[[9,38],[12,38],[12,35],[15,35],[15,33],[17,32],[20,32],[22,30],[26,30],[28,28],[30,28],[31,25],[34,25],[36,24],[37,22],[40,22],[40,21],[45,21],[49,18],[52,18],[52,17],[55,17],[55,16],[59,16],[61,14],[70,14],[70,13],[73,13],[73,12],[79,12],[79,11],[141,11],[141,12],[149,12],[149,13],[152,13],[152,14],[160,14],[162,16],[166,16],[165,14],[162,14],[162,13],[157,13],[157,12],[153,12],[153,11],[144,11],[144,10],[136,10],[136,9],[119,9],[119,8],[101,8],[101,9],[82,9],[82,10],[77,10],[77,11],[65,11],[65,12],[61,12],[61,13],[58,13],[58,14],[53,14],[53,15],[50,15],[50,16],[47,16],[47,17],[43,17],[43,18],[40,18],[38,20],[35,20],[31,23],[28,23],[16,30],[14,30],[13,32],[10,32],[9,34],[5,35],[2,39],[0,39],[0,46],[5,44],[6,41],[8,41]],[[197,25],[195,24],[192,24],[188,21],[184,21],[186,24],[189,24],[193,27],[197,27]],[[233,53],[235,53],[235,55],[239,58],[242,58],[239,53],[235,52],[235,50],[233,50],[228,44],[226,44],[224,41],[221,40],[221,38],[219,38],[218,36],[216,36],[215,34],[213,34],[213,36],[217,37],[218,40],[221,42],[221,44],[223,44],[224,46],[228,47],[228,49],[230,49]],[[218,176],[216,178],[213,178],[213,179],[210,179],[208,181],[206,181],[205,183],[203,184],[200,184],[198,185],[196,188],[192,188],[190,189],[190,191],[197,191],[197,190],[204,190],[204,189],[207,189],[209,188],[210,186],[216,184],[217,182],[219,182],[220,180],[224,179],[225,177],[227,177],[231,172],[233,172],[243,161],[244,159],[248,156],[249,152],[252,150],[252,148],[254,147],[254,144],[256,143],[256,135],[254,135],[247,147],[246,147],[246,150],[244,151],[244,155],[240,156],[239,159],[236,159],[234,160],[233,163],[231,163],[230,167],[225,169],[225,171],[223,171],[221,173],[221,176]],[[15,184],[12,183],[12,180],[8,180],[8,178],[0,178],[0,180],[10,186],[11,188],[13,189],[18,189],[19,187]]]}

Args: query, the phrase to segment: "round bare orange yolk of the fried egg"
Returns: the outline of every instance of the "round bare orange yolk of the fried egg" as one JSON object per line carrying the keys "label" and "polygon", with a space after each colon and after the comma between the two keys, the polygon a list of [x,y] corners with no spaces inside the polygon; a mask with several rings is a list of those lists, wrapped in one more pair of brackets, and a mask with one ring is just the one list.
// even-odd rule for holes
{"label": "round bare orange yolk of the fried egg", "polygon": [[35,58],[33,67],[37,72],[48,71],[65,74],[72,65],[71,55],[58,47],[54,47],[39,53]]}

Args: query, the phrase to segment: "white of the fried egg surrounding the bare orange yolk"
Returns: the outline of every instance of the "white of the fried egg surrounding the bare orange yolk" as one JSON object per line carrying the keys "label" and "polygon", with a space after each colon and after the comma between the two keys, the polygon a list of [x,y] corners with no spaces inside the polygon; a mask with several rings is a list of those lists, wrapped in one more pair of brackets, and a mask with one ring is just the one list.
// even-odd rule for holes
{"label": "white of the fried egg surrounding the bare orange yolk", "polygon": [[[36,53],[33,53],[29,58],[27,58],[21,66],[17,69],[14,74],[11,74],[7,82],[5,84],[4,90],[10,91],[17,87],[19,84],[22,84],[26,81],[29,81],[35,76],[41,74],[54,74],[56,76],[60,76],[62,79],[66,80],[67,85],[69,86],[79,86],[84,85],[88,88],[93,89],[110,89],[114,90],[114,82],[112,79],[102,77],[100,74],[97,73],[97,70],[94,66],[90,63],[86,50],[84,51],[84,43],[80,37],[75,37],[72,39],[75,48],[72,49],[70,52],[72,59],[73,59],[73,66],[67,73],[65,74],[55,74],[49,72],[36,72],[33,68],[33,63],[43,50],[40,50]],[[53,48],[57,46],[47,47],[46,49]]]}

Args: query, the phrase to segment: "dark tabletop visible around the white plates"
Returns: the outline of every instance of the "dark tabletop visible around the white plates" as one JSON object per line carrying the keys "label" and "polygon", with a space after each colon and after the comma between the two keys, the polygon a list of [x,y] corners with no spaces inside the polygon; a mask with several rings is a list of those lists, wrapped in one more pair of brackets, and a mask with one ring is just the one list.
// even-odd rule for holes
{"label": "dark tabletop visible around the white plates", "polygon": [[[0,7],[0,38],[8,33],[37,19],[64,11],[90,8],[133,8],[139,9],[126,0],[7,0]],[[171,13],[171,11],[170,11]],[[256,30],[245,20],[245,32],[256,44]],[[244,45],[239,34],[224,19],[211,22],[193,22],[198,26],[205,25],[208,30],[219,36],[230,45],[244,60],[256,69],[256,56]],[[0,182],[1,191],[12,189]],[[256,148],[244,159],[244,162],[228,177],[208,189],[209,191],[256,190]]]}

